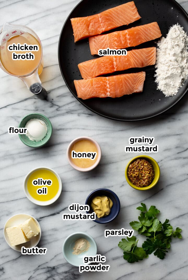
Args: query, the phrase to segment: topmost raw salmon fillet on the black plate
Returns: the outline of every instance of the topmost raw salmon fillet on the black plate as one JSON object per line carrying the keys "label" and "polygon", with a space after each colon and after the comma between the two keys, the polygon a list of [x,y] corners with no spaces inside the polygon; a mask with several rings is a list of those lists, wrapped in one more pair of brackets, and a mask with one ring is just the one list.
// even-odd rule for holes
{"label": "topmost raw salmon fillet on the black plate", "polygon": [[133,1],[89,17],[71,18],[74,42],[128,25],[141,18]]}

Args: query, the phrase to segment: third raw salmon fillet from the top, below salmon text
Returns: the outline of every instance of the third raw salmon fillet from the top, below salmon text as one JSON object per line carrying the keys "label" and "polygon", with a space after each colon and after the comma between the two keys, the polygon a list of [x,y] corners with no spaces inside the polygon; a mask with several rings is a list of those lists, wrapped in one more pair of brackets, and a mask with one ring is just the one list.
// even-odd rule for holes
{"label": "third raw salmon fillet from the top, below salmon text", "polygon": [[154,65],[156,48],[144,48],[128,51],[127,55],[110,55],[91,59],[78,64],[82,78],[91,79],[103,74],[123,71],[129,68]]}

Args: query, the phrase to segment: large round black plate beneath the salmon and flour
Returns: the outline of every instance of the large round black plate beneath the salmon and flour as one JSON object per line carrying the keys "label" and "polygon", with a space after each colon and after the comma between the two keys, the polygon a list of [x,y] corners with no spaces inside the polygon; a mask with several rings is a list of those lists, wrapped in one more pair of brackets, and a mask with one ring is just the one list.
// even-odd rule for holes
{"label": "large round black plate beneath the salmon and flour", "polygon": [[[77,97],[74,87],[74,80],[80,80],[81,75],[78,69],[78,63],[98,57],[90,53],[88,38],[74,43],[73,29],[70,18],[85,17],[100,13],[109,8],[129,2],[128,0],[83,0],[68,16],[59,38],[58,57],[59,66],[66,85],[72,94],[86,108],[98,115],[122,121],[144,120],[159,115],[175,105],[187,92],[188,80],[180,88],[178,94],[173,97],[165,95],[156,89],[154,81],[155,67],[148,66],[144,68],[129,69],[116,72],[115,74],[146,71],[146,80],[144,90],[139,94],[124,95],[119,98],[93,98],[82,100]],[[158,22],[163,36],[166,36],[169,28],[179,23],[188,33],[188,15],[183,8],[174,0],[134,0],[138,12],[142,17],[140,20],[122,26],[115,30],[123,30],[137,25]],[[112,32],[112,31],[109,31]],[[106,32],[108,33],[108,32]],[[155,46],[155,42],[147,42],[135,48],[144,48]],[[134,48],[127,48],[127,50]]]}

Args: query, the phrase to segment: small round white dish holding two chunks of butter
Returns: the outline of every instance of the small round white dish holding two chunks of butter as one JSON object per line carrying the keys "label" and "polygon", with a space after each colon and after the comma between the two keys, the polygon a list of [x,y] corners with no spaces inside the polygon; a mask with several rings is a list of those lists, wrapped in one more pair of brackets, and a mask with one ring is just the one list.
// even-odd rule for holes
{"label": "small round white dish holding two chunks of butter", "polygon": [[[36,230],[35,224],[32,225],[32,223],[31,223],[29,225],[29,224],[25,223],[25,221],[27,221],[30,218],[32,218],[32,220],[36,223],[37,228],[39,229],[39,233],[32,238],[31,238],[31,233],[28,231],[28,228],[31,226],[31,227],[33,227],[33,230]],[[31,238],[31,239],[28,239],[26,237],[26,235],[23,234],[22,230],[20,230],[20,232],[19,232],[19,226],[21,224],[23,224],[23,230],[26,233],[27,237]],[[13,230],[11,230],[12,227],[15,227],[15,228],[13,228]],[[6,231],[7,228],[10,228],[9,237],[8,237],[8,234]],[[19,251],[19,252],[21,252],[22,246],[24,246],[25,248],[32,248],[32,247],[37,246],[38,242],[40,241],[40,237],[41,237],[41,228],[40,228],[38,221],[34,217],[32,217],[28,214],[17,214],[17,215],[12,216],[11,218],[9,218],[8,221],[6,221],[6,223],[4,225],[3,232],[4,232],[4,239],[6,240],[7,244],[13,250]],[[17,242],[20,239],[20,242],[23,241],[23,243],[16,245],[16,246],[11,246],[11,242],[9,240],[10,237],[11,237],[11,242],[14,242],[15,240]]]}

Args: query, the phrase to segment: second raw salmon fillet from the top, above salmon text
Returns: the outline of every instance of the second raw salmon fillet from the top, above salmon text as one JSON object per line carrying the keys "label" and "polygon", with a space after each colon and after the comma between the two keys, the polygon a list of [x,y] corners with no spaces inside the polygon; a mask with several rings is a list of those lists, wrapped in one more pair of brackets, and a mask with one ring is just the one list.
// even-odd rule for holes
{"label": "second raw salmon fillet from the top, above salmon text", "polygon": [[161,31],[157,22],[144,24],[123,31],[115,31],[109,34],[98,35],[89,38],[91,54],[98,54],[99,49],[122,49],[138,46],[144,42],[161,37]]}

